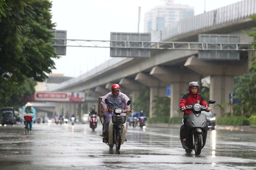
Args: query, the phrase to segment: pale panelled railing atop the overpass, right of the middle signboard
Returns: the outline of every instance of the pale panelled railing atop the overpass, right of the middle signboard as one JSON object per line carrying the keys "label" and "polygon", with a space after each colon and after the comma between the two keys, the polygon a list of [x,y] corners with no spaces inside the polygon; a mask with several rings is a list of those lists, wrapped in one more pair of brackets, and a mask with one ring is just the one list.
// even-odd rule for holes
{"label": "pale panelled railing atop the overpass, right of the middle signboard", "polygon": [[184,33],[236,21],[255,14],[256,0],[240,1],[213,11],[182,19],[169,27],[163,28],[163,30],[153,31],[151,33],[151,41],[165,41]]}

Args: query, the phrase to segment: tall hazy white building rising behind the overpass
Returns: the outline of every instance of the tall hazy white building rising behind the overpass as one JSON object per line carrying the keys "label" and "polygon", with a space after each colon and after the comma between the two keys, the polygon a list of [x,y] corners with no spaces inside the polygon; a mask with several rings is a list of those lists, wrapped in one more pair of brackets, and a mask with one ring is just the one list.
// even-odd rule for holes
{"label": "tall hazy white building rising behind the overpass", "polygon": [[194,16],[194,7],[188,5],[173,4],[173,1],[165,1],[164,5],[157,6],[145,14],[144,32],[161,30],[181,19]]}

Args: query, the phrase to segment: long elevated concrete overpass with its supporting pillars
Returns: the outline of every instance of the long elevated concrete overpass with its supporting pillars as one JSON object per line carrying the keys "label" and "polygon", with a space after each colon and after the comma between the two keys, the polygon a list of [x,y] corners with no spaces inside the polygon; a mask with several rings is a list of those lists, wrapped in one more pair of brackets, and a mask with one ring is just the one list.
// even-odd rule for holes
{"label": "long elevated concrete overpass with its supporting pillars", "polygon": [[[162,31],[152,34],[152,41],[197,42],[198,34],[239,35],[240,43],[251,43],[252,37],[243,30],[251,31],[255,21],[248,18],[256,13],[256,0],[244,0],[214,11],[177,22]],[[61,83],[53,91],[86,91],[88,96],[105,95],[113,83],[122,87],[122,92],[137,98],[137,90],[150,87],[150,116],[154,113],[153,99],[165,96],[166,87],[172,86],[170,116],[180,115],[181,94],[188,92],[188,83],[210,75],[210,99],[217,117],[223,112],[218,104],[229,102],[233,93],[233,77],[246,73],[254,51],[240,51],[239,60],[199,60],[198,50],[152,50],[150,58],[112,58],[96,69]],[[58,104],[59,108],[64,104]],[[96,105],[96,103],[88,104]],[[229,112],[226,107],[224,112]]]}

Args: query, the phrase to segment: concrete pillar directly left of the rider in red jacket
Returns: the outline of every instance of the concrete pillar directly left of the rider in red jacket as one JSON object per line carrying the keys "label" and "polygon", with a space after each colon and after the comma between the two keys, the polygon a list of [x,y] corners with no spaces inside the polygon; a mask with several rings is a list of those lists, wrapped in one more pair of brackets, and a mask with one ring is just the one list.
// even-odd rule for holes
{"label": "concrete pillar directly left of the rider in red jacket", "polygon": [[180,117],[180,99],[188,92],[188,83],[172,83],[170,117]]}

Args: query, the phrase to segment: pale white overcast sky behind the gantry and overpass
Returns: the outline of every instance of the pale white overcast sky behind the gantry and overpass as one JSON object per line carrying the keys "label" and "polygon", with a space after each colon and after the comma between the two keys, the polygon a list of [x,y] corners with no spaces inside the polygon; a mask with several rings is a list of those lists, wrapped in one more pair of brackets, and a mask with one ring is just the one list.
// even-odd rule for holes
{"label": "pale white overcast sky behind the gantry and overpass", "polygon": [[[212,11],[241,0],[173,0],[194,7],[194,14]],[[52,22],[66,30],[67,39],[110,40],[110,32],[144,33],[145,13],[164,0],[52,0]],[[204,4],[205,3],[205,4]],[[54,60],[52,73],[78,77],[110,59],[109,48],[67,47],[66,55]]]}

